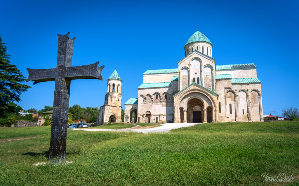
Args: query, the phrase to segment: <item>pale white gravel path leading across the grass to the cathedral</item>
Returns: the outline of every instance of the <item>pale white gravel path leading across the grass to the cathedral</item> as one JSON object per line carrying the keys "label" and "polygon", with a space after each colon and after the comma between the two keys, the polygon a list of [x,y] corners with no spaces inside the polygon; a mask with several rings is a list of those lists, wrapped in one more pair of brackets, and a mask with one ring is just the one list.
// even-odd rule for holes
{"label": "pale white gravel path leading across the grass to the cathedral", "polygon": [[99,129],[99,128],[75,128],[75,129],[70,129],[70,130],[86,130],[86,131],[113,131],[113,132],[139,132],[139,133],[151,133],[151,132],[169,132],[172,129],[176,128],[181,128],[181,127],[190,127],[193,125],[196,125],[198,123],[166,123],[166,124],[161,124],[159,127],[154,127],[154,128],[145,128],[145,129],[134,129],[135,127],[138,127],[139,125],[136,125],[135,127],[132,128],[125,128],[125,129]]}

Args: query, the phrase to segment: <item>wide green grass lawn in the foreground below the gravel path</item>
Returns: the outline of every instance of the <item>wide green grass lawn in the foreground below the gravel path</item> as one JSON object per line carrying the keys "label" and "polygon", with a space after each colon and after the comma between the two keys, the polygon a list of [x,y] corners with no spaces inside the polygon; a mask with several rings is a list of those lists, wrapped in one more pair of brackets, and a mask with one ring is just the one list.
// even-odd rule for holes
{"label": "wide green grass lawn in the foreground below the gravel path", "polygon": [[47,160],[50,132],[0,128],[0,185],[273,185],[261,175],[299,175],[298,121],[208,123],[149,134],[68,130],[72,163],[33,166]]}

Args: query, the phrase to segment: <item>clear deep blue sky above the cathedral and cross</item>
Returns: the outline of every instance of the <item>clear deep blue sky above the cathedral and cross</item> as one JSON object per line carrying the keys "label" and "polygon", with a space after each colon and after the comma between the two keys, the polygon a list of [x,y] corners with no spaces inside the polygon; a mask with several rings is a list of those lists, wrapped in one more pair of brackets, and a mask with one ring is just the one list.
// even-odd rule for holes
{"label": "clear deep blue sky above the cathedral and cross", "polygon": [[[264,114],[298,107],[298,1],[1,1],[0,34],[11,63],[28,77],[54,68],[57,34],[76,36],[73,66],[99,61],[104,81],[71,82],[70,106],[100,107],[117,69],[123,103],[137,97],[146,70],[177,68],[197,27],[213,44],[216,65],[254,63]],[[33,85],[23,109],[53,105],[54,82]],[[124,108],[124,106],[123,106]]]}

